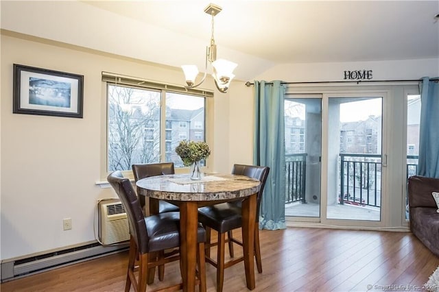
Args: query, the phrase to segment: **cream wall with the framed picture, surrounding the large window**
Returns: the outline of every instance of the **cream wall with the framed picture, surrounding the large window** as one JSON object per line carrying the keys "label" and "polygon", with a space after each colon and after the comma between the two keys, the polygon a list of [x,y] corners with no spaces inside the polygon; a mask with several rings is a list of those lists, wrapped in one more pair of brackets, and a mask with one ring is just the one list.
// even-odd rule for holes
{"label": "cream wall with the framed picture, surrounding the large window", "polygon": [[[12,64],[84,75],[84,118],[12,114]],[[102,71],[173,84],[182,84],[182,72],[4,31],[0,69],[1,259],[93,241],[97,199],[115,197],[112,189],[95,184],[106,176],[101,171],[106,151]],[[204,83],[214,89],[212,80]],[[245,88],[242,82],[233,82],[233,87]],[[251,95],[246,90],[222,94],[215,89],[209,171],[231,169],[229,132],[239,136],[242,128],[230,131],[237,118],[230,119],[228,102]],[[240,143],[240,149],[246,149],[246,143]],[[67,217],[73,228],[64,231],[62,219]]]}

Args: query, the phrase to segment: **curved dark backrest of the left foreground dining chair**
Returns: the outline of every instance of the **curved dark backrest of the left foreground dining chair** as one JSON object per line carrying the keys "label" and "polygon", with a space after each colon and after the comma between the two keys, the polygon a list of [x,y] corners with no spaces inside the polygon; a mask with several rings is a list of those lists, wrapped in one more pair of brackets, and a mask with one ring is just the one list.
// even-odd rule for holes
{"label": "curved dark backrest of the left foreground dining chair", "polygon": [[121,171],[113,171],[108,175],[107,180],[121,200],[128,217],[130,234],[134,238],[134,241],[136,241],[139,252],[144,254],[147,252],[149,239],[139,198],[134,192],[130,180],[123,178]]}

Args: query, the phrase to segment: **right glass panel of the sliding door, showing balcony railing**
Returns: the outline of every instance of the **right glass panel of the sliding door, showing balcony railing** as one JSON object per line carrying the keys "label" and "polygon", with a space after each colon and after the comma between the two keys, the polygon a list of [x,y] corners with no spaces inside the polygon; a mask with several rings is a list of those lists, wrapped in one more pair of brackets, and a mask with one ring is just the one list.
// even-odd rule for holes
{"label": "right glass panel of the sliding door, showing balcony railing", "polygon": [[382,97],[329,97],[327,219],[381,221]]}

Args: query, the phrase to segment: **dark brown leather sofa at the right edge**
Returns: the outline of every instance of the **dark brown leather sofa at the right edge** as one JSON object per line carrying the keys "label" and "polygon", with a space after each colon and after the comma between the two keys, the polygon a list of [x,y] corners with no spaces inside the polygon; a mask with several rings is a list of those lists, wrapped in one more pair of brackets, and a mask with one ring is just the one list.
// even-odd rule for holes
{"label": "dark brown leather sofa at the right edge", "polygon": [[439,213],[431,195],[439,192],[439,178],[409,178],[410,230],[431,252],[439,256]]}

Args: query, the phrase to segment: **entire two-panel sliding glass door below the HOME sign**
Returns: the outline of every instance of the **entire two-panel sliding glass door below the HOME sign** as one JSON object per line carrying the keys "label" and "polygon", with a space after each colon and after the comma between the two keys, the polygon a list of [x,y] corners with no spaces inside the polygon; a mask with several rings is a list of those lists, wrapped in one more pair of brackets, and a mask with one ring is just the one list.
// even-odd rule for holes
{"label": "entire two-panel sliding glass door below the HOME sign", "polygon": [[285,216],[289,220],[381,223],[384,95],[287,94]]}

